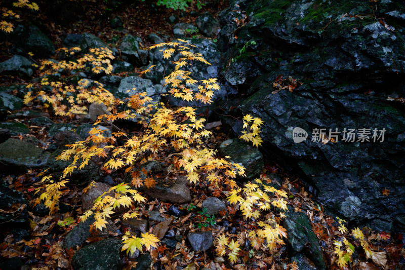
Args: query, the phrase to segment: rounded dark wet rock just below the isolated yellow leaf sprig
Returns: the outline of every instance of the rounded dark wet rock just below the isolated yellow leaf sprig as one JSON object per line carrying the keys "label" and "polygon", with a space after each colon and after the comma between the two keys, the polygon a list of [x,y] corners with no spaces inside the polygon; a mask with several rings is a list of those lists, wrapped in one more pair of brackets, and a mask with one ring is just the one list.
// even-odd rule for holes
{"label": "rounded dark wet rock just below the isolated yellow leaf sprig", "polygon": [[241,139],[229,139],[221,143],[219,153],[229,156],[229,160],[245,167],[246,177],[237,176],[240,179],[252,179],[259,176],[263,170],[263,155],[257,147]]}

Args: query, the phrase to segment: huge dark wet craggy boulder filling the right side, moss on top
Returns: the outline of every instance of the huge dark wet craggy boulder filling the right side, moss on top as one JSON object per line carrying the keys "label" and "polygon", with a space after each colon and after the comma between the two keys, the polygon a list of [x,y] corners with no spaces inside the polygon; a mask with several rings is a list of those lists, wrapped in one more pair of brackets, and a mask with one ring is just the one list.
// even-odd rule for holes
{"label": "huge dark wet craggy boulder filling the right side, moss on top", "polygon": [[[354,16],[369,5],[233,1],[220,14],[221,24],[228,26],[221,29],[218,44],[225,59],[239,56],[223,72],[239,96],[225,113],[260,117],[264,153],[314,185],[317,200],[328,210],[353,224],[403,233],[405,109],[396,98],[405,96],[400,80],[405,27],[398,19],[405,6],[378,5],[375,15],[385,18],[383,25],[372,16]],[[237,9],[252,16],[232,40],[234,19],[241,18]],[[252,40],[256,44],[240,53]],[[284,79],[275,82],[280,74]],[[221,121],[240,134],[234,118]],[[300,143],[294,137],[305,132],[297,127],[308,136]],[[349,129],[354,141],[343,140]],[[384,136],[376,140],[374,129],[377,136],[385,130]],[[319,131],[325,136],[317,136]],[[384,189],[391,190],[390,196],[382,194]]]}

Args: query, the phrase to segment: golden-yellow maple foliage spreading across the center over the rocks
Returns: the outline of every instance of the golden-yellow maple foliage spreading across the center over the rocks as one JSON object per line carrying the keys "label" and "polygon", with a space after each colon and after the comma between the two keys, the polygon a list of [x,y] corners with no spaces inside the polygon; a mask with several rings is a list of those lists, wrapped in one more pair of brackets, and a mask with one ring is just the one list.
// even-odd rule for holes
{"label": "golden-yellow maple foliage spreading across the center over the rocks", "polygon": [[[170,87],[169,93],[186,101],[199,100],[202,103],[211,103],[214,92],[220,89],[217,79],[197,81],[191,77],[189,71],[182,69],[188,67],[192,61],[209,64],[200,54],[189,51],[193,45],[188,41],[178,40],[178,42],[158,44],[151,48],[161,47],[165,47],[161,50],[165,58],[171,58],[177,54],[181,56],[178,61],[173,62],[175,65],[173,72],[164,78],[165,85]],[[78,48],[61,49],[59,52],[74,55],[78,50]],[[136,168],[146,161],[161,159],[159,156],[161,152],[170,149],[171,154],[166,156],[165,161],[170,165],[168,170],[172,174],[185,175],[191,184],[197,184],[204,179],[210,185],[228,188],[230,190],[228,200],[238,204],[247,219],[261,217],[262,212],[268,211],[271,204],[282,210],[287,209],[286,202],[282,199],[285,195],[282,193],[284,191],[272,190],[265,185],[263,185],[264,190],[259,189],[257,183],[260,183],[260,180],[256,180],[256,183],[246,184],[243,189],[238,188],[234,178],[237,175],[245,175],[245,168],[217,157],[216,150],[207,144],[207,139],[212,133],[205,129],[205,120],[197,117],[194,108],[189,106],[169,108],[163,103],[153,102],[147,93],[137,93],[127,100],[126,105],[129,109],[118,111],[116,105],[120,103],[116,102],[98,82],[91,82],[92,87],[89,88],[88,80],[79,81],[77,86],[52,81],[52,75],[61,68],[77,71],[92,66],[93,72],[108,74],[111,71],[111,52],[108,49],[95,49],[90,52],[91,54],[86,54],[76,61],[55,63],[48,60],[43,61],[40,67],[43,72],[41,85],[51,87],[51,93],[40,88],[35,94],[33,91],[29,92],[24,101],[28,103],[32,102],[35,97],[40,98],[54,109],[55,114],[64,117],[73,117],[75,113],[83,113],[86,110],[85,105],[88,103],[103,102],[109,107],[112,114],[100,115],[95,124],[100,124],[102,121],[111,123],[120,119],[140,119],[138,123],[143,124],[143,129],[131,135],[116,131],[107,136],[103,130],[93,128],[90,136],[85,140],[68,145],[69,148],[62,151],[57,158],[62,161],[70,161],[70,165],[63,171],[60,186],[46,189],[45,195],[41,195],[39,200],[49,200],[48,204],[57,206],[59,198],[62,196],[58,190],[66,182],[65,178],[74,170],[82,170],[96,159],[104,171],[125,172],[132,176],[132,180],[130,184],[121,183],[111,187],[95,200],[92,209],[84,212],[80,219],[83,221],[94,215],[93,225],[101,229],[106,226],[106,218],[112,216],[118,208],[129,210],[123,215],[124,219],[136,217],[138,213],[134,211],[135,204],[146,201],[146,198],[141,196],[136,188],[142,185],[151,188],[156,182],[151,176],[142,180]],[[31,89],[31,86],[29,87]],[[75,94],[76,97],[73,98],[72,94]],[[63,102],[66,101],[70,104],[69,106],[64,105]],[[74,110],[72,110],[73,108]],[[250,129],[252,132],[258,132],[262,122],[259,119],[252,121]],[[124,143],[118,144],[117,140],[124,141]],[[144,175],[147,175],[147,172],[144,172]],[[90,185],[94,185],[94,183],[90,183]],[[90,186],[85,188],[85,191],[89,188]],[[243,192],[244,195],[239,195],[240,192]],[[272,192],[273,195],[269,196],[268,192]],[[255,231],[255,236],[252,236],[252,239],[256,239],[255,248],[261,248],[264,245],[264,239],[267,239],[267,246],[264,248],[272,248],[275,243],[284,244],[281,238],[286,237],[285,230],[274,219],[265,219],[260,223],[260,228]],[[127,250],[127,253],[133,253],[136,249],[141,250],[142,247],[149,250],[150,247],[156,247],[157,242],[158,239],[150,234],[143,234],[141,238],[125,235],[123,250]],[[235,262],[240,249],[238,242],[232,240],[226,246],[230,251],[229,260]]]}

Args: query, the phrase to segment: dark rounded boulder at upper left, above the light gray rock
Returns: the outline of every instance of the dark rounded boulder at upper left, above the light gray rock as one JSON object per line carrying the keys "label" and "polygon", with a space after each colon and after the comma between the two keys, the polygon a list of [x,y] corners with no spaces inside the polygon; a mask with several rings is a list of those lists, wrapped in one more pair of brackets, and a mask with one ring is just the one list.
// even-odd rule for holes
{"label": "dark rounded boulder at upper left, above the light gray rock", "polygon": [[55,46],[49,37],[32,23],[17,25],[10,36],[19,48],[32,52],[35,57],[48,57],[55,53]]}

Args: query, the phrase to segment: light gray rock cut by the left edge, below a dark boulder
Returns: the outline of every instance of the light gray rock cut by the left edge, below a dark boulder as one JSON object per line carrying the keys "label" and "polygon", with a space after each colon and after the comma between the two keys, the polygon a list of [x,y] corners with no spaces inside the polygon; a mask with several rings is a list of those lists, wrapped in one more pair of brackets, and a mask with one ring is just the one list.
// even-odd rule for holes
{"label": "light gray rock cut by the left edge, below a dark boulder", "polygon": [[0,63],[0,73],[30,77],[32,75],[32,62],[21,55],[14,55]]}

